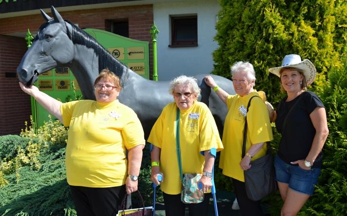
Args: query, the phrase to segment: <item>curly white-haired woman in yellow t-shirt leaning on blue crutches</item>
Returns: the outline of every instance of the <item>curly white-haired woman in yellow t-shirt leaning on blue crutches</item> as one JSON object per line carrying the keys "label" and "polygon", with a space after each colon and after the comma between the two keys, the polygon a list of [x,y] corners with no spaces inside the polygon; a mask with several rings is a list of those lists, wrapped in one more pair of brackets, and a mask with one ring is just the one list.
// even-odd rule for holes
{"label": "curly white-haired woman in yellow t-shirt leaning on blue crutches", "polygon": [[[223,145],[210,109],[197,101],[200,89],[196,79],[185,75],[176,77],[169,92],[174,102],[163,108],[148,138],[148,142],[153,144],[151,180],[161,185],[166,216],[184,216],[186,205],[190,216],[207,216],[215,152],[222,150]],[[177,116],[179,133],[176,133]],[[180,143],[182,172],[203,174],[200,182],[205,197],[200,203],[185,204],[181,201],[182,181],[176,138]],[[163,177],[161,182],[157,180],[158,175]]]}

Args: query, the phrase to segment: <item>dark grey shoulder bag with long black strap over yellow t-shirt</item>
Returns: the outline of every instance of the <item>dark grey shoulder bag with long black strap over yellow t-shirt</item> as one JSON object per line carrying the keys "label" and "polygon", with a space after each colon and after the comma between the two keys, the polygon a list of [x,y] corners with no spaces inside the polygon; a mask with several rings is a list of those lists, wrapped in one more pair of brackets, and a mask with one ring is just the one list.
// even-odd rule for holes
{"label": "dark grey shoulder bag with long black strap over yellow t-shirt", "polygon": [[[258,96],[252,96],[250,98],[247,105],[247,112],[253,97]],[[246,152],[247,125],[246,116],[245,129],[243,132],[242,158],[245,157]],[[277,190],[270,145],[268,145],[268,151],[264,157],[251,161],[251,168],[244,171],[244,176],[247,197],[253,201],[258,201]]]}

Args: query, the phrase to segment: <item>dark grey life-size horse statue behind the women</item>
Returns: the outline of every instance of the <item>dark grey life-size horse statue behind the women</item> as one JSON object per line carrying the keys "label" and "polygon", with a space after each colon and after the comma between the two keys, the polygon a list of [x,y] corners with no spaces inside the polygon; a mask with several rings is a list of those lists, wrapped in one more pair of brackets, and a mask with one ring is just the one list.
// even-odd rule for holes
{"label": "dark grey life-size horse statue behind the women", "polygon": [[[77,79],[84,99],[95,100],[94,81],[105,68],[120,78],[122,90],[119,101],[132,108],[141,121],[147,139],[162,108],[173,102],[169,94],[169,81],[147,80],[133,72],[88,35],[68,20],[64,20],[52,6],[53,18],[42,10],[46,20],[39,27],[30,49],[22,57],[17,68],[19,81],[27,86],[37,81],[39,74],[56,67],[69,67]],[[220,134],[227,114],[225,104],[203,81],[207,74],[195,75],[201,89],[199,101],[204,102],[215,118]],[[230,80],[212,75],[218,86],[234,94]]]}

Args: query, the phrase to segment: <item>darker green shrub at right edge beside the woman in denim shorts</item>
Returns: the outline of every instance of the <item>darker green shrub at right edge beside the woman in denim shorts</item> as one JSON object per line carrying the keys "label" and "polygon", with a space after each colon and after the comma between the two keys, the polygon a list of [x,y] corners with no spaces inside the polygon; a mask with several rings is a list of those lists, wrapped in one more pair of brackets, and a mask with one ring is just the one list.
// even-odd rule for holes
{"label": "darker green shrub at right edge beside the woman in denim shorts", "polygon": [[315,194],[300,215],[347,215],[347,57],[344,68],[328,72],[328,85],[320,97],[328,114],[329,136],[323,148],[323,169]]}

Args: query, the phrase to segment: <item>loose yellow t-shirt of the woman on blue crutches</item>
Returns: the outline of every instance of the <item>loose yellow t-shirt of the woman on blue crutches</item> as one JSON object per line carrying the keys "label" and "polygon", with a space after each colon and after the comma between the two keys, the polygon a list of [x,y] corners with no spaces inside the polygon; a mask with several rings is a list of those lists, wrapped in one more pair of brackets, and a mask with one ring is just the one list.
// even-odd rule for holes
{"label": "loose yellow t-shirt of the woman on blue crutches", "polygon": [[[164,181],[160,188],[166,194],[181,193],[176,153],[176,110],[175,103],[164,107],[148,138],[149,143],[161,148],[160,170]],[[200,152],[223,149],[211,111],[197,101],[191,108],[180,110],[179,140],[183,173],[202,173],[205,158]]]}

